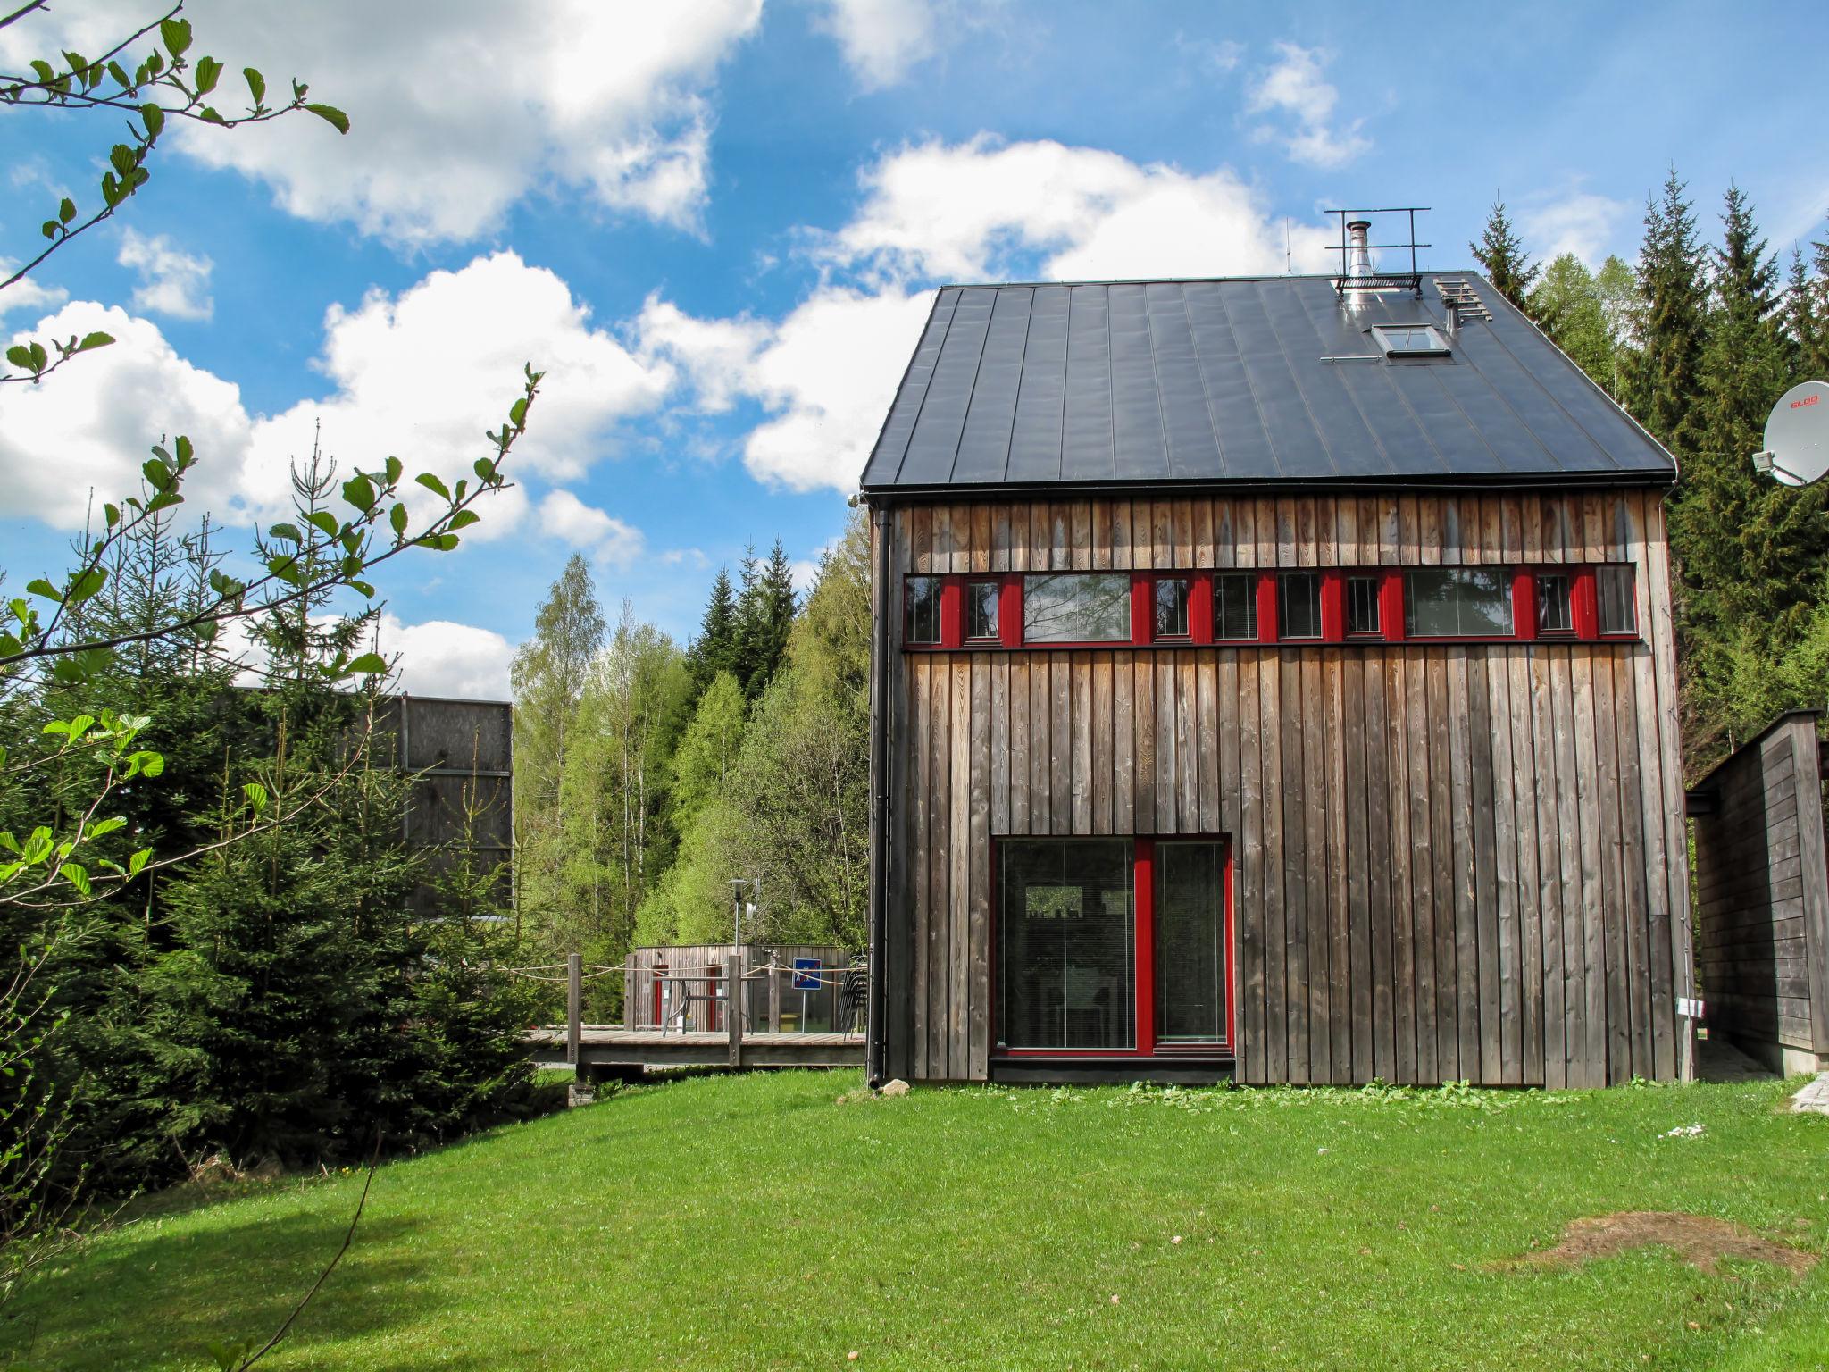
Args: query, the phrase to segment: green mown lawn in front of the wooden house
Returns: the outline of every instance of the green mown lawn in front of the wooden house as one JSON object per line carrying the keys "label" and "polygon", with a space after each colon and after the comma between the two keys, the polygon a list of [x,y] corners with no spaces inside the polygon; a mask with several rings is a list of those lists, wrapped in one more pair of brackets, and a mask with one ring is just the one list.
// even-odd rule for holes
{"label": "green mown lawn in front of the wooden house", "polygon": [[[1829,1262],[1509,1264],[1628,1209],[1822,1253],[1829,1118],[1776,1083],[836,1105],[854,1085],[695,1077],[384,1167],[263,1367],[1829,1367]],[[207,1367],[283,1315],[358,1184],[126,1226],[9,1337],[35,1330],[33,1368]]]}

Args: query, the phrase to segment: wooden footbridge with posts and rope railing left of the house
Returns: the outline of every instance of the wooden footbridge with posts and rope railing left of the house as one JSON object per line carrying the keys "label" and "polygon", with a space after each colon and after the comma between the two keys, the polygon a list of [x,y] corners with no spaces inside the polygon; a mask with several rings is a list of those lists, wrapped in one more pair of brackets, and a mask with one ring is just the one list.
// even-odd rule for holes
{"label": "wooden footbridge with posts and rope railing left of the house", "polygon": [[[743,968],[741,951],[732,957],[730,970],[733,982],[775,977],[781,968]],[[609,971],[605,968],[605,971]],[[825,973],[821,973],[825,975]],[[653,1068],[675,1067],[863,1067],[863,1034],[836,1032],[779,1032],[779,1028],[755,1030],[748,1026],[743,1013],[746,997],[735,997],[737,1013],[730,1002],[715,1002],[722,1026],[715,1030],[680,1028],[624,1028],[622,1024],[585,1024],[583,1023],[583,959],[572,953],[565,960],[565,1024],[549,1024],[527,1032],[525,1043],[534,1057],[541,1061],[563,1059],[576,1068],[580,1081],[598,1077],[635,1076]],[[686,982],[688,977],[666,977],[666,981]],[[704,981],[704,977],[699,977]],[[706,995],[682,997],[691,1001],[711,1001]],[[779,1026],[779,1010],[768,1015]]]}

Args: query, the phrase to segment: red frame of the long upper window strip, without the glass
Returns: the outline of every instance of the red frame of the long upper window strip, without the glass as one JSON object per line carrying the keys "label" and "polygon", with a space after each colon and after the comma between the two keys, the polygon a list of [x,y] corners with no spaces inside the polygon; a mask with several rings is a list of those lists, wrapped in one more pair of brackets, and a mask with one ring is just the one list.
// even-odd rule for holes
{"label": "red frame of the long upper window strip, without the glass", "polygon": [[[1428,635],[1410,638],[1405,629],[1405,576],[1412,571],[1439,567],[1500,567],[1511,574],[1511,633],[1469,633],[1469,635]],[[1633,585],[1633,627],[1626,633],[1600,633],[1600,606],[1597,578],[1600,567],[1626,567]],[[1128,576],[1130,578],[1130,637],[1097,642],[1028,642],[1022,633],[1022,578],[1024,576]],[[1246,574],[1257,578],[1257,637],[1255,638],[1218,638],[1213,633],[1213,578]],[[1321,578],[1321,635],[1284,638],[1280,635],[1280,578],[1286,574],[1315,574]],[[1569,578],[1571,631],[1538,633],[1536,627],[1536,578],[1556,574]],[[916,576],[931,576],[940,582],[940,640],[907,642],[907,582]],[[1372,576],[1379,582],[1379,631],[1346,631],[1346,580],[1353,576]],[[1187,633],[1156,635],[1156,584],[1165,578],[1185,580],[1187,593]],[[966,585],[995,582],[997,593],[997,637],[966,638]],[[1342,565],[1342,567],[1178,567],[1160,571],[1108,571],[1103,567],[1075,567],[1064,573],[999,571],[999,573],[907,573],[902,591],[902,627],[907,653],[958,653],[982,649],[1032,648],[1037,651],[1081,649],[1081,648],[1244,648],[1251,644],[1286,644],[1304,648],[1311,644],[1494,644],[1494,642],[1531,642],[1547,638],[1555,642],[1642,642],[1644,606],[1639,598],[1639,565],[1635,562],[1540,562],[1540,563],[1407,563],[1390,565]]]}

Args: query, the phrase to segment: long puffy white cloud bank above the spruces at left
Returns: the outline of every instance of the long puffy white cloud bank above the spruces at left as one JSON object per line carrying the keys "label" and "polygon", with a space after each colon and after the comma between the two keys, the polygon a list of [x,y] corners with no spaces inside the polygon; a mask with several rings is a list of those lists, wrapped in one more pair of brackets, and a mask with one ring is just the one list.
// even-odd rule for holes
{"label": "long puffy white cloud bank above the spruces at left", "polygon": [[[633,357],[591,326],[565,282],[512,252],[432,273],[399,296],[377,291],[353,309],[331,307],[318,359],[331,391],[278,415],[251,415],[234,384],[119,307],[73,302],[38,331],[91,329],[117,342],[42,386],[0,393],[0,465],[18,474],[4,514],[79,527],[91,487],[102,498],[134,488],[146,446],[176,434],[201,457],[192,505],[225,520],[287,507],[289,463],[311,452],[316,424],[344,470],[397,456],[410,472],[455,481],[488,452],[483,430],[501,424],[529,360],[547,377],[508,474],[563,481],[613,452],[618,423],[653,410],[673,384],[664,360]],[[525,509],[521,487],[490,496],[466,540],[507,534]]]}

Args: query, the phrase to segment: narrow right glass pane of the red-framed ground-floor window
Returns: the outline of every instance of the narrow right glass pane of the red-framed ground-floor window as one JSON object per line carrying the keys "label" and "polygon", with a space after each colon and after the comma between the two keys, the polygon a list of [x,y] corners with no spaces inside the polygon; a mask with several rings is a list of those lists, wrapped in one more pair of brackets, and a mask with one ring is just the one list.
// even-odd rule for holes
{"label": "narrow right glass pane of the red-framed ground-floor window", "polygon": [[1225,843],[1156,841],[1156,1043],[1231,1039]]}

